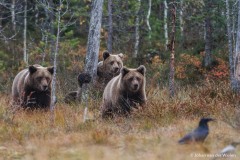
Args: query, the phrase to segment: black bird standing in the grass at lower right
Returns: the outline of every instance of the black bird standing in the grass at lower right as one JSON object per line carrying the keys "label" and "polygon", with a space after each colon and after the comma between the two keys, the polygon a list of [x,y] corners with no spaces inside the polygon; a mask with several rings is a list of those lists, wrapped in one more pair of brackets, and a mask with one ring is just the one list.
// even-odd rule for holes
{"label": "black bird standing in the grass at lower right", "polygon": [[203,142],[209,133],[208,122],[213,120],[214,119],[212,118],[202,118],[199,122],[198,127],[191,133],[185,135],[178,141],[178,143],[187,144],[191,142]]}

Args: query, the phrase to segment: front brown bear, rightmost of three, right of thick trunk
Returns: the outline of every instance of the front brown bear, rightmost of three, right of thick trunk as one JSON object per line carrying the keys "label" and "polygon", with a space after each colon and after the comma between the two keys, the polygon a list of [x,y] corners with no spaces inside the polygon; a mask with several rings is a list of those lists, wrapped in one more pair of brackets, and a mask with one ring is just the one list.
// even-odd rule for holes
{"label": "front brown bear, rightmost of three, right of thick trunk", "polygon": [[104,89],[102,118],[127,115],[132,107],[137,107],[137,104],[144,106],[147,100],[145,72],[146,68],[143,65],[136,69],[126,67],[121,69],[121,73],[114,77]]}

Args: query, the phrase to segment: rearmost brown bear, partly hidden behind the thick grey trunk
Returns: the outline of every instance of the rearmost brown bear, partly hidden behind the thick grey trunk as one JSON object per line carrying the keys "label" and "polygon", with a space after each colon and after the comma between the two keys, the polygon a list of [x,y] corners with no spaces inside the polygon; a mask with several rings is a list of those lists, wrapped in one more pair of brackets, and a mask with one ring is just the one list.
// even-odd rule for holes
{"label": "rearmost brown bear, partly hidden behind the thick grey trunk", "polygon": [[[123,67],[123,54],[110,54],[108,51],[103,52],[103,61],[100,61],[97,66],[96,81],[93,82],[95,92],[103,92],[107,83],[115,76],[119,75]],[[81,73],[78,76],[78,91],[68,93],[64,101],[66,103],[74,102],[78,94],[81,92],[81,87],[84,83],[89,83],[91,76],[87,73]]]}

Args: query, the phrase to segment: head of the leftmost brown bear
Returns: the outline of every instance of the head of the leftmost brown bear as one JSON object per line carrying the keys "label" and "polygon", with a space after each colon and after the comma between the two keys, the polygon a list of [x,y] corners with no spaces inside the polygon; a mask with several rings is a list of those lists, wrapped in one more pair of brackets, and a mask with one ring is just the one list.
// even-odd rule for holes
{"label": "head of the leftmost brown bear", "polygon": [[28,86],[36,91],[44,92],[51,88],[54,67],[31,65],[28,67]]}

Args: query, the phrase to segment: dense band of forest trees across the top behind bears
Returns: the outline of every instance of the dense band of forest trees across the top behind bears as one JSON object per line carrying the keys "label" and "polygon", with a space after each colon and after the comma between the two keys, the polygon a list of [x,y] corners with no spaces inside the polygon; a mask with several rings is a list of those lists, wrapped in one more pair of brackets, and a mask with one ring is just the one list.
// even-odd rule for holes
{"label": "dense band of forest trees across the top behind bears", "polygon": [[[94,2],[2,0],[0,70],[28,63],[53,63],[57,40],[60,44],[87,45]],[[175,6],[176,55],[182,51],[192,54],[205,51],[202,65],[211,68],[216,50],[228,48],[231,84],[238,88],[238,1],[107,0],[102,3],[101,47],[110,52],[125,52],[137,63],[154,54],[169,59],[171,9]],[[68,53],[60,50],[61,54]]]}

